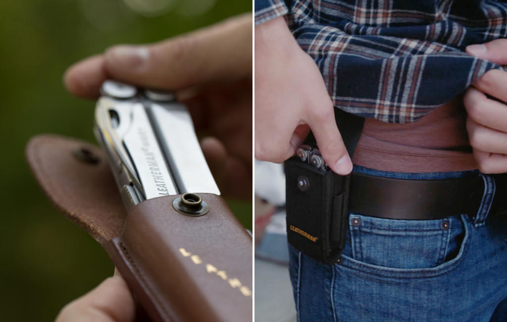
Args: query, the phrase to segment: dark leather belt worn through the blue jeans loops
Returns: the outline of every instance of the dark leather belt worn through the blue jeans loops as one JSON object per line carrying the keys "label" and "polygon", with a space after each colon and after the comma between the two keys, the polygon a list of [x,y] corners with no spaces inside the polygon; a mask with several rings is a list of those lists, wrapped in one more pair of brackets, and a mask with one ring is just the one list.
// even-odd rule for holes
{"label": "dark leather belt worn through the blue jeans loops", "polygon": [[[490,211],[505,212],[505,174],[495,175],[496,193]],[[390,219],[441,219],[475,216],[484,195],[481,176],[447,180],[405,180],[352,173],[350,212]]]}

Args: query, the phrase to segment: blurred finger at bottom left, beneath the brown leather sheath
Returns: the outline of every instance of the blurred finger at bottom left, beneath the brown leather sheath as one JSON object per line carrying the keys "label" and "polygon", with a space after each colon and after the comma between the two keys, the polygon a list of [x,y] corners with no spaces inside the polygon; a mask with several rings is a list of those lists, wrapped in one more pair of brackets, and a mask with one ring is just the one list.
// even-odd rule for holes
{"label": "blurred finger at bottom left, beneath the brown leather sheath", "polygon": [[130,322],[134,319],[134,301],[123,278],[113,276],[98,287],[67,304],[56,322]]}

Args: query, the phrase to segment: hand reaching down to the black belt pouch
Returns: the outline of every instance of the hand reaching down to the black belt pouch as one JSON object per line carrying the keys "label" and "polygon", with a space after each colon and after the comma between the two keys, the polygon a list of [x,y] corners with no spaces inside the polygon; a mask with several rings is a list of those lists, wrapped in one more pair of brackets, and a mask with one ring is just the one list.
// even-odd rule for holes
{"label": "hand reaching down to the black belt pouch", "polygon": [[283,17],[257,26],[255,37],[256,158],[283,162],[311,129],[328,166],[348,174],[352,162],[315,62],[296,43]]}

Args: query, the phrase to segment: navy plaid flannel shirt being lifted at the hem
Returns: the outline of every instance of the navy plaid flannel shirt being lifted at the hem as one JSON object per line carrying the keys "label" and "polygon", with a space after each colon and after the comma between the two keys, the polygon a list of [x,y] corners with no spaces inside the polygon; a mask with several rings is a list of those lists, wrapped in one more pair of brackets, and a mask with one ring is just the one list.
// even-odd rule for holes
{"label": "navy plaid flannel shirt being lifted at the hem", "polygon": [[479,0],[255,0],[256,25],[288,14],[334,105],[410,123],[492,68],[468,45],[507,37],[507,4]]}

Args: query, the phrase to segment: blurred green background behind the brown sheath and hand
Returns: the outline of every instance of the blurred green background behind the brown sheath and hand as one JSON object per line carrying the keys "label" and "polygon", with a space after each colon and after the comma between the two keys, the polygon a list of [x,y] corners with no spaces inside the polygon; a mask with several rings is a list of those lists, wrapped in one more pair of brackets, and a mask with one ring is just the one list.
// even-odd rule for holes
{"label": "blurred green background behind the brown sheath and hand", "polygon": [[[1,320],[53,320],[113,274],[100,245],[47,201],[24,160],[34,134],[95,142],[94,102],[65,92],[65,68],[113,44],[155,42],[248,11],[250,1],[234,0],[0,1]],[[251,229],[251,203],[228,202]]]}

